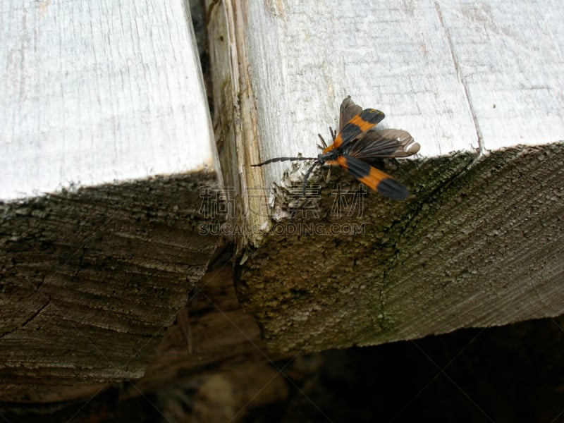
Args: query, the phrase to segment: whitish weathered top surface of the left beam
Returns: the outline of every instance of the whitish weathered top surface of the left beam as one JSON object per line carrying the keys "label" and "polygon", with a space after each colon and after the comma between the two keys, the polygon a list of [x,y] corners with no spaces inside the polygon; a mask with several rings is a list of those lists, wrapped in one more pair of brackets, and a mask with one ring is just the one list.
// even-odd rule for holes
{"label": "whitish weathered top surface of the left beam", "polygon": [[0,4],[0,198],[209,168],[184,2]]}

